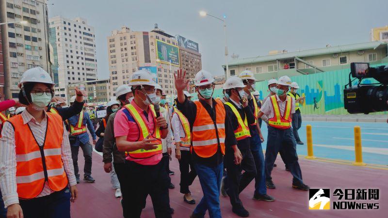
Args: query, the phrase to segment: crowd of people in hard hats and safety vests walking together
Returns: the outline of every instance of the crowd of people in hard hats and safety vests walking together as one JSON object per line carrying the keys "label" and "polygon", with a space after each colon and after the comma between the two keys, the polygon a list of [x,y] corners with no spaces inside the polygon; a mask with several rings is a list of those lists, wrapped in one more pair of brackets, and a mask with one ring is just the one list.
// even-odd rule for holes
{"label": "crowd of people in hard hats and safety vests walking together", "polygon": [[[220,192],[229,197],[233,213],[248,217],[239,194],[252,180],[253,200],[275,201],[267,188],[275,188],[271,172],[278,153],[293,176],[291,187],[309,189],[296,154],[296,144],[303,144],[298,129],[304,101],[296,82],[287,76],[270,79],[269,94],[260,100],[253,73],[243,71],[226,80],[218,99],[213,98],[214,78],[201,70],[194,78],[198,100],[193,101],[193,93],[185,91],[186,72],[174,76],[177,98],[171,106],[153,76],[140,70],[115,90],[116,100],[97,108],[106,109],[106,116],[97,119],[94,108],[83,109],[85,91],[75,88],[67,107],[54,97],[47,72],[27,70],[18,84],[18,100],[0,102],[1,111],[10,111],[9,116],[0,113],[0,217],[69,218],[81,182],[80,147],[83,182],[96,181],[91,141],[96,150],[101,146],[104,171],[110,173],[125,218],[141,217],[148,195],[155,217],[173,216],[169,162],[174,150],[183,202],[197,204],[191,218],[203,218],[206,211],[220,218]],[[265,156],[262,121],[268,126]],[[203,191],[199,201],[190,192],[197,176]]]}

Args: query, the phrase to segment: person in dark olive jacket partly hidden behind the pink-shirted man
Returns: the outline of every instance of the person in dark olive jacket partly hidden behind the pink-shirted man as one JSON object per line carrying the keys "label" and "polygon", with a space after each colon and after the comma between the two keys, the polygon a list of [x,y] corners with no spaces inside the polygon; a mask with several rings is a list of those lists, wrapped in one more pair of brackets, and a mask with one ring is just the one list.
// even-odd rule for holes
{"label": "person in dark olive jacket partly hidden behind the pink-shirted man", "polygon": [[[120,102],[120,109],[129,104],[133,100],[133,93],[131,87],[128,85],[121,85],[115,91],[116,98]],[[111,102],[113,103],[113,101]],[[106,127],[104,131],[104,143],[102,144],[102,161],[104,162],[104,171],[112,175],[116,174],[118,182],[120,183],[120,192],[121,192],[121,204],[127,198],[129,198],[130,193],[126,192],[126,187],[128,187],[127,180],[127,171],[125,167],[125,152],[118,151],[117,146],[115,145],[114,138],[114,118],[117,111],[112,110],[112,114],[106,120]],[[113,157],[113,158],[112,158]],[[112,167],[113,162],[113,167]],[[114,179],[114,178],[113,178]],[[117,187],[117,186],[115,186]],[[117,189],[116,189],[116,192]],[[117,195],[116,195],[117,194]],[[115,196],[118,196],[119,193],[115,193]],[[123,216],[129,217],[130,212],[125,210],[123,207]]]}

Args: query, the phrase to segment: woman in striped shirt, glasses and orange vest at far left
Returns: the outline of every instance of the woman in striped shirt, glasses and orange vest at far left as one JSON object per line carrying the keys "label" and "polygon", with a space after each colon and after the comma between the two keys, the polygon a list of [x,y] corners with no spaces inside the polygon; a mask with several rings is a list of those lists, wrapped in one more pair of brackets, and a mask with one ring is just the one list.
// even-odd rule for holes
{"label": "woman in striped shirt, glasses and orange vest at far left", "polygon": [[70,218],[70,201],[77,198],[65,125],[45,111],[53,86],[41,67],[24,72],[18,98],[27,107],[3,124],[0,187],[9,218]]}

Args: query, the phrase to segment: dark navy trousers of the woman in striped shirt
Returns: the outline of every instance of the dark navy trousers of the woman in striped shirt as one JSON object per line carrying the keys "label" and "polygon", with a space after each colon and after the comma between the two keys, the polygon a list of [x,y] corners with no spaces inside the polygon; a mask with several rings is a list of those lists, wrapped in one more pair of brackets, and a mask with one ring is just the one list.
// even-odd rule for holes
{"label": "dark navy trousers of the woman in striped shirt", "polygon": [[47,196],[19,199],[19,203],[24,218],[70,218],[70,197],[70,189],[65,187]]}

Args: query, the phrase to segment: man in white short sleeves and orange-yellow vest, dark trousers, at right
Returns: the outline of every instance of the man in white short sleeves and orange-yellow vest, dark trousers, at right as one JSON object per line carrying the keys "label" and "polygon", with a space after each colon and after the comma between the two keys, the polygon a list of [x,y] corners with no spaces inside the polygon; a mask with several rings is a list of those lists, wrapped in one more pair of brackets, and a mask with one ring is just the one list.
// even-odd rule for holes
{"label": "man in white short sleeves and orange-yellow vest, dark trousers, at right", "polygon": [[275,188],[271,172],[274,167],[277,153],[283,152],[284,161],[293,176],[292,187],[308,190],[302,180],[302,171],[296,154],[296,141],[292,134],[292,114],[295,113],[295,100],[287,93],[291,86],[291,79],[288,76],[280,77],[277,80],[276,95],[272,95],[259,112],[259,117],[266,114],[268,120],[268,141],[265,151],[266,185],[268,188]]}

